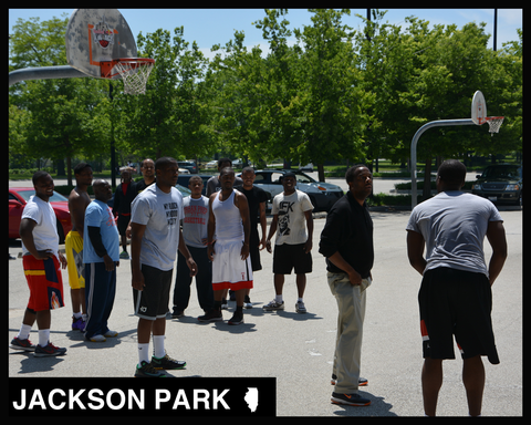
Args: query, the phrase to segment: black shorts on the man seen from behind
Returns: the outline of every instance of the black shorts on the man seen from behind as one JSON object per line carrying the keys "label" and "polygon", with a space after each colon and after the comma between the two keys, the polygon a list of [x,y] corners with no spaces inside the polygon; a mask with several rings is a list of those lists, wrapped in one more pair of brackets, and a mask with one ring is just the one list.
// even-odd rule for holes
{"label": "black shorts on the man seen from behind", "polygon": [[500,363],[487,276],[445,267],[428,270],[418,292],[418,304],[424,357],[455,359],[455,335],[462,359],[487,355],[490,363]]}

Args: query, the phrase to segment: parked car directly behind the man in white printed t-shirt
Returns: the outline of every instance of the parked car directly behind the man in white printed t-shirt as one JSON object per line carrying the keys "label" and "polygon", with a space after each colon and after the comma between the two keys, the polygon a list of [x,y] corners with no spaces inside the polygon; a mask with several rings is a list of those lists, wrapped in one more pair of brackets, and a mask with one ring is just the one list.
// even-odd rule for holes
{"label": "parked car directly behind the man in white printed t-shirt", "polygon": [[[304,191],[313,204],[314,211],[330,211],[332,206],[344,193],[340,186],[324,182],[315,182],[309,175],[298,170],[287,169],[258,169],[254,172],[254,185],[261,187],[268,194],[269,200],[283,190],[280,178],[284,173],[294,173],[296,176],[296,188]],[[240,176],[240,174],[238,174]]]}

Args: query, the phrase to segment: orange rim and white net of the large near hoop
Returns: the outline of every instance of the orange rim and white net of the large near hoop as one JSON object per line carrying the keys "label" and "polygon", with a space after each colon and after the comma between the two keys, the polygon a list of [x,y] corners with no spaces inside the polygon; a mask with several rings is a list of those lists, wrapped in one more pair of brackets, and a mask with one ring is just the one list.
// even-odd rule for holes
{"label": "orange rim and white net of the large near hoop", "polygon": [[[155,60],[149,58],[121,58],[101,63],[102,77],[112,79],[119,74],[126,94],[146,93],[147,79],[154,66]],[[116,72],[111,74],[113,69]]]}

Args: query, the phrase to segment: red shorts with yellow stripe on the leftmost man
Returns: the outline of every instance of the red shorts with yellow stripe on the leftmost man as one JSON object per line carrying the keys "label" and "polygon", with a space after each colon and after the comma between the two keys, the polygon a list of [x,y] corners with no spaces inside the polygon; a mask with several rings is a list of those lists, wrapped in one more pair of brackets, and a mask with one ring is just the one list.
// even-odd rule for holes
{"label": "red shorts with yellow stripe on the leftmost man", "polygon": [[42,311],[64,307],[61,265],[55,256],[46,260],[23,256],[22,266],[30,288],[28,309]]}

